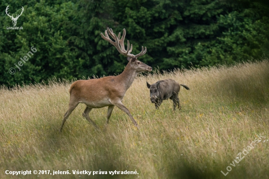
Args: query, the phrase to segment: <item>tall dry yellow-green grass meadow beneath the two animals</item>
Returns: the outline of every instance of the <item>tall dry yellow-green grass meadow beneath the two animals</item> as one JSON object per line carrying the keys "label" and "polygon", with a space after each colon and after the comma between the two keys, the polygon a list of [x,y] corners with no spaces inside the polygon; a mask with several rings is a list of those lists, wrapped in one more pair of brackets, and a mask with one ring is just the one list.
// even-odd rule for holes
{"label": "tall dry yellow-green grass meadow beneath the two animals", "polygon": [[[182,110],[166,100],[155,111],[150,84],[174,79],[181,88]],[[269,61],[139,76],[123,103],[139,124],[114,108],[105,129],[107,108],[82,116],[80,104],[61,126],[70,83],[51,82],[13,90],[0,89],[0,179],[268,179]],[[251,141],[262,141],[239,162]],[[246,153],[246,152],[245,152]],[[243,155],[243,154],[242,154]],[[243,155],[244,156],[244,155]],[[227,167],[230,166],[230,167]],[[221,171],[227,173],[224,176]],[[32,175],[5,171],[31,170]],[[33,174],[33,170],[69,171],[69,175]],[[72,170],[107,171],[107,175],[72,174]],[[109,171],[137,171],[109,175]]]}

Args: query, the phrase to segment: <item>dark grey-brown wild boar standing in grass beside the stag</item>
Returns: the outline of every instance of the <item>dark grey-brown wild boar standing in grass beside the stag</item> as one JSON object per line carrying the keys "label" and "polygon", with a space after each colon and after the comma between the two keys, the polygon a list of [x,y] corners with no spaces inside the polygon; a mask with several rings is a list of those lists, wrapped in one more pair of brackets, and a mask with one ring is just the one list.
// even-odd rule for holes
{"label": "dark grey-brown wild boar standing in grass beside the stag", "polygon": [[[186,90],[190,90],[186,85],[182,85]],[[150,85],[147,82],[147,87],[150,89],[150,100],[155,104],[156,110],[159,108],[163,100],[171,99],[173,100],[174,110],[178,106],[181,109],[179,104],[179,83],[172,79],[160,80],[157,83]]]}

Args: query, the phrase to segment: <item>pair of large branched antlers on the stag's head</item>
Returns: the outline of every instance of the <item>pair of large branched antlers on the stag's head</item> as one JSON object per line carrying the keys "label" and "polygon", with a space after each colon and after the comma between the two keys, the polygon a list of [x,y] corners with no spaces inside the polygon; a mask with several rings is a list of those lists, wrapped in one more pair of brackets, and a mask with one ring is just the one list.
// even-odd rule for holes
{"label": "pair of large branched antlers on the stag's head", "polygon": [[[109,32],[109,35],[112,37],[112,39],[115,42],[113,42],[109,38],[108,32]],[[138,53],[137,55],[131,54],[132,49],[133,49],[133,45],[131,44],[131,48],[130,48],[129,41],[127,41],[127,50],[125,50],[125,47],[124,47],[124,39],[125,39],[125,35],[126,35],[125,28],[123,29],[123,34],[122,34],[121,39],[119,39],[120,38],[120,33],[119,33],[118,36],[116,36],[116,34],[113,33],[112,28],[108,28],[105,31],[105,35],[106,36],[104,36],[103,33],[101,33],[101,36],[102,36],[102,38],[104,40],[106,40],[109,43],[111,43],[112,45],[114,45],[117,48],[117,50],[119,51],[119,53],[126,56],[126,57],[137,58],[137,57],[140,57],[140,56],[144,55],[147,52],[147,47],[145,47],[145,49],[144,49],[144,47],[142,46],[142,51],[140,53]]]}

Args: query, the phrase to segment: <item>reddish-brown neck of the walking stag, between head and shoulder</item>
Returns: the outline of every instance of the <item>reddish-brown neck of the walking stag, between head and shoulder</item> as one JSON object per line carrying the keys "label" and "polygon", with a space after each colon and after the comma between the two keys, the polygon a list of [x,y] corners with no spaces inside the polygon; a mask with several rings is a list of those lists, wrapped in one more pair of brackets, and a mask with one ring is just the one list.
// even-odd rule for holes
{"label": "reddish-brown neck of the walking stag, between head and shoulder", "polygon": [[120,83],[124,86],[124,88],[128,90],[131,87],[132,83],[134,82],[136,76],[137,72],[128,63],[124,71],[120,75],[118,75],[118,78]]}

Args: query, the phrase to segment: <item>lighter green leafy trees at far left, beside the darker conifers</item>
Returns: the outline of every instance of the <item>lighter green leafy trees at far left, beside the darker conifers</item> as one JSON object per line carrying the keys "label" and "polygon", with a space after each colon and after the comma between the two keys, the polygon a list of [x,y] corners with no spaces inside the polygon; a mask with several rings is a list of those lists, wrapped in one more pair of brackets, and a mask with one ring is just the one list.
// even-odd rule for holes
{"label": "lighter green leafy trees at far left, beside the darker conifers", "polygon": [[[9,11],[20,9],[10,5]],[[24,12],[19,18],[17,25],[22,30],[1,30],[1,79],[0,83],[14,85],[16,83],[33,83],[47,80],[56,76],[57,78],[71,79],[79,74],[81,60],[76,58],[77,52],[67,45],[68,31],[64,26],[77,9],[72,2],[61,4],[49,4],[40,1],[33,6],[23,5]],[[17,12],[18,13],[18,12]],[[11,26],[8,16],[3,16],[4,27]],[[23,64],[21,71],[18,65],[31,47],[37,52]],[[8,73],[10,67],[16,68],[16,73]]]}

